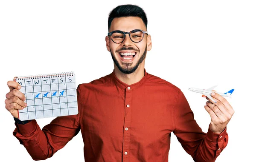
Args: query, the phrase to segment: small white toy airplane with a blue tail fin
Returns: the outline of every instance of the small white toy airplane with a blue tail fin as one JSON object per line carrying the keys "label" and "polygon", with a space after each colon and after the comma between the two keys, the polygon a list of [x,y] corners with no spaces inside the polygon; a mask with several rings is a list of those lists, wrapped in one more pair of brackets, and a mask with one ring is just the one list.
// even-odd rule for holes
{"label": "small white toy airplane with a blue tail fin", "polygon": [[[217,87],[218,85],[215,85],[211,88],[208,89],[199,89],[199,88],[189,88],[190,91],[192,92],[197,92],[200,94],[203,94],[202,97],[208,97],[209,99],[211,99],[213,102],[216,102],[214,99],[212,99],[211,94],[212,94],[212,90],[214,90],[215,87]],[[219,93],[216,92],[217,94],[221,95],[222,97],[230,97],[231,94],[233,93],[234,89],[231,89],[230,91],[227,91],[226,93]]]}

